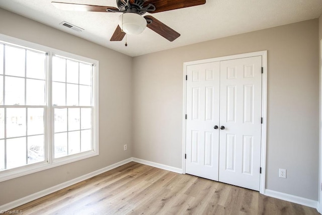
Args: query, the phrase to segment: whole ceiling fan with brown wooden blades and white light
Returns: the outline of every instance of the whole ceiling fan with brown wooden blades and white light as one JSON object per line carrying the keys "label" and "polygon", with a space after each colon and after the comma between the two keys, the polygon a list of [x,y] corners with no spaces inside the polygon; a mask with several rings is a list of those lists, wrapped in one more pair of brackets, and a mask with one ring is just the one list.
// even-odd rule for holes
{"label": "whole ceiling fan with brown wooden blades and white light", "polygon": [[178,32],[152,16],[142,17],[142,15],[203,5],[206,0],[116,0],[118,8],[61,2],[51,3],[61,10],[122,13],[119,17],[119,25],[110,41],[121,41],[125,34],[140,34],[145,27],[148,27],[172,42],[180,36]]}

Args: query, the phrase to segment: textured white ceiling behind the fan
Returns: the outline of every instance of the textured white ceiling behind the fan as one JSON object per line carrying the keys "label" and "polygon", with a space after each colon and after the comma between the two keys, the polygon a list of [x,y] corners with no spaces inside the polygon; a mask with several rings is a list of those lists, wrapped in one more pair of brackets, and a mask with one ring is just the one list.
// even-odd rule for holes
{"label": "textured white ceiling behind the fan", "polygon": [[[55,0],[56,2],[116,7],[115,0]],[[51,0],[0,0],[0,8],[87,39],[129,56],[189,45],[216,38],[318,18],[322,0],[206,0],[205,5],[152,14],[181,34],[169,42],[146,28],[123,41],[110,41],[119,13],[61,11]],[[85,29],[59,25],[66,21]]]}

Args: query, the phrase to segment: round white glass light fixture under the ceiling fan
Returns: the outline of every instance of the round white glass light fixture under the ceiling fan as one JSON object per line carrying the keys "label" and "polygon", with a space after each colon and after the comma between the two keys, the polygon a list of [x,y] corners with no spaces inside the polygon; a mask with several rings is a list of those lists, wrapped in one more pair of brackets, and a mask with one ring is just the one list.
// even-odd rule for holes
{"label": "round white glass light fixture under the ceiling fan", "polygon": [[119,26],[126,34],[140,34],[146,27],[146,20],[139,14],[124,13],[119,17]]}

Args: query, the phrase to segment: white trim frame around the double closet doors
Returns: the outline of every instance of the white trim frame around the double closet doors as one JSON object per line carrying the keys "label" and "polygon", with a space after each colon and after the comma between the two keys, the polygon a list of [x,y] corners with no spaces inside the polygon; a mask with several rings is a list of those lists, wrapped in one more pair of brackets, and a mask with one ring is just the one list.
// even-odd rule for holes
{"label": "white trim frame around the double closet doors", "polygon": [[266,176],[266,126],[267,126],[267,51],[257,51],[251,53],[244,53],[244,54],[236,54],[230,56],[223,56],[223,57],[216,57],[216,58],[209,58],[203,60],[195,60],[184,62],[183,66],[183,134],[182,134],[182,173],[186,173],[186,159],[185,159],[185,152],[186,152],[186,113],[187,113],[187,66],[194,65],[194,64],[201,64],[201,63],[208,63],[208,62],[215,62],[215,61],[222,61],[222,60],[231,60],[231,59],[238,59],[238,58],[245,58],[245,57],[255,57],[255,56],[262,56],[262,66],[263,66],[263,76],[262,76],[262,137],[261,137],[261,168],[262,173],[260,175],[260,193],[264,194],[265,192],[265,176]]}

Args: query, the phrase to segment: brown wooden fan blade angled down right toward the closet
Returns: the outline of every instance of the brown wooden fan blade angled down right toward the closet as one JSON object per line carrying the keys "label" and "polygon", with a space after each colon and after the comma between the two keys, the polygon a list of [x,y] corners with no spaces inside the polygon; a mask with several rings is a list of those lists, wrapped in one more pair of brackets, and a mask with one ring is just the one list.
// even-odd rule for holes
{"label": "brown wooden fan blade angled down right toward the closet", "polygon": [[152,23],[147,25],[146,27],[148,27],[152,31],[156,32],[157,34],[163,36],[167,40],[172,42],[175,39],[177,39],[178,37],[180,37],[180,34],[178,32],[176,32],[175,30],[173,30],[169,26],[165,25],[164,23],[158,21],[154,17],[145,16],[144,18],[152,20]]}

